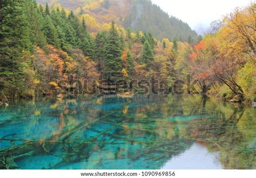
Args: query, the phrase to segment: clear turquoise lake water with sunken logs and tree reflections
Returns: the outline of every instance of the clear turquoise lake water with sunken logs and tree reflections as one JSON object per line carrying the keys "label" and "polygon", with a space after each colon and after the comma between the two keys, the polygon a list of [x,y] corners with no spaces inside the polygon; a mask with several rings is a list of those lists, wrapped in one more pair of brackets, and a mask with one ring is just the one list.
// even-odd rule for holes
{"label": "clear turquoise lake water with sunken logs and tree reflections", "polygon": [[206,96],[0,107],[2,169],[256,169],[256,109]]}

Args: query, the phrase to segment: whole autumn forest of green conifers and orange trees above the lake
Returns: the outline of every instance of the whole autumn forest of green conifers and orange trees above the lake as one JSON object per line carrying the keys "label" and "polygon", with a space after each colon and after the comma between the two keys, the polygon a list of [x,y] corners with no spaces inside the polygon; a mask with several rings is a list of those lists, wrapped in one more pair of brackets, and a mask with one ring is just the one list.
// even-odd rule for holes
{"label": "whole autumn forest of green conifers and orange trees above the lake", "polygon": [[[105,2],[89,5],[107,6]],[[74,79],[98,86],[102,81],[163,80],[167,88],[189,74],[199,80],[193,93],[256,102],[255,8],[237,8],[213,22],[212,32],[204,37],[166,33],[163,38],[157,34],[165,34],[161,30],[166,27],[147,32],[123,26],[115,16],[102,25],[97,20],[104,19],[83,8],[70,11],[33,0],[3,0],[0,98],[64,95]]]}

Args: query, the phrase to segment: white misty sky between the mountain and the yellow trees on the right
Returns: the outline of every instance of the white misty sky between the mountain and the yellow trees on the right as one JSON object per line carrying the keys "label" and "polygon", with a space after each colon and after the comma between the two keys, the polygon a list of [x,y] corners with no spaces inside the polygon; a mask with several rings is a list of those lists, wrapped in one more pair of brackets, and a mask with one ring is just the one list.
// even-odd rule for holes
{"label": "white misty sky between the mountain and the yellow trees on the right", "polygon": [[243,7],[252,0],[151,0],[165,12],[177,17],[193,30],[204,34],[211,22],[221,19],[237,6]]}

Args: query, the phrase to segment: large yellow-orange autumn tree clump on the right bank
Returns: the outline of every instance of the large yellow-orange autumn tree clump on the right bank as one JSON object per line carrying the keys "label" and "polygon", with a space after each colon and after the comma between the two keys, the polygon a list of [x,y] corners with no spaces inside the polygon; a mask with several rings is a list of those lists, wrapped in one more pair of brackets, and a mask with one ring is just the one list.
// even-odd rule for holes
{"label": "large yellow-orange autumn tree clump on the right bank", "polygon": [[[224,19],[217,33],[206,35],[203,41],[194,46],[194,52],[190,54],[190,68],[193,76],[200,80],[204,92],[217,82],[240,96],[241,101],[245,90],[248,92],[248,86],[244,85],[246,82],[241,82],[241,77],[251,83],[253,91],[253,82],[246,75],[241,75],[241,71],[251,77],[255,74],[248,67],[248,64],[255,66],[254,6],[236,9]],[[253,94],[250,95],[253,99]]]}

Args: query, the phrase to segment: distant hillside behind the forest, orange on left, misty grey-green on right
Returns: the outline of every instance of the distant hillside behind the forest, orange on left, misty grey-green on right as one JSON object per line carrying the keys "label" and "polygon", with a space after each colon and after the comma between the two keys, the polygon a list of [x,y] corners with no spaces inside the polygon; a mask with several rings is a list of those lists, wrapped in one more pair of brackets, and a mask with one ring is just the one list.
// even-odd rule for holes
{"label": "distant hillside behind the forest, orange on left, misty grey-green on right", "polygon": [[173,40],[174,37],[183,41],[189,37],[197,39],[197,33],[191,30],[188,24],[176,17],[170,17],[149,0],[37,0],[37,2],[43,5],[49,3],[50,6],[60,4],[79,15],[89,15],[90,20],[87,21],[96,24],[89,28],[92,32],[102,30],[100,26],[114,20],[125,29],[150,32],[158,39]]}

